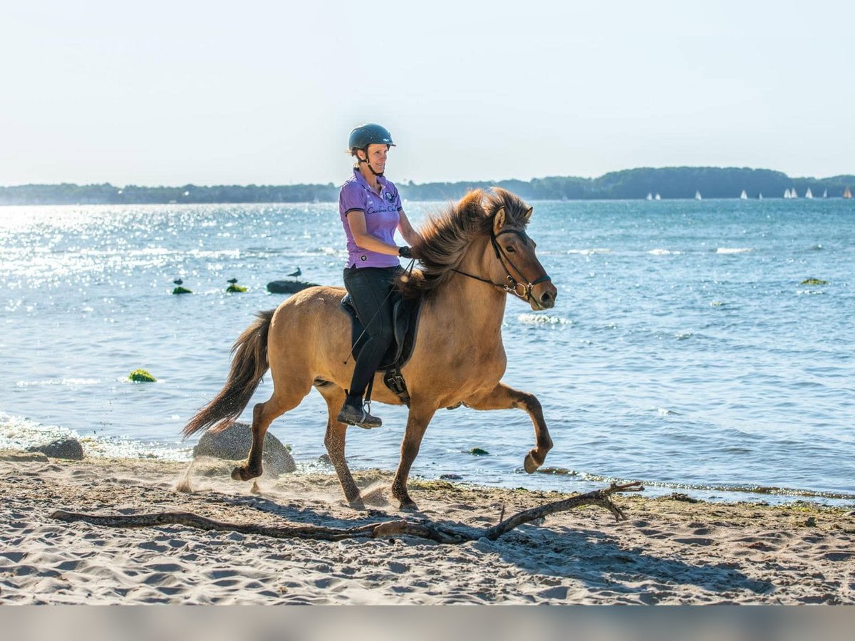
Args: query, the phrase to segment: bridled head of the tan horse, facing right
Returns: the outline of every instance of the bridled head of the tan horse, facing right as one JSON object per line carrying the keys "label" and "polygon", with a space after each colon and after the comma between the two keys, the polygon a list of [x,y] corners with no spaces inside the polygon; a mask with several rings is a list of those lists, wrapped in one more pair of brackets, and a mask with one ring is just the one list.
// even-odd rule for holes
{"label": "bridled head of the tan horse, facing right", "polygon": [[484,209],[492,220],[487,248],[492,253],[492,282],[528,301],[535,311],[554,307],[558,291],[535,254],[537,243],[526,233],[533,208],[510,191],[494,187],[486,194]]}

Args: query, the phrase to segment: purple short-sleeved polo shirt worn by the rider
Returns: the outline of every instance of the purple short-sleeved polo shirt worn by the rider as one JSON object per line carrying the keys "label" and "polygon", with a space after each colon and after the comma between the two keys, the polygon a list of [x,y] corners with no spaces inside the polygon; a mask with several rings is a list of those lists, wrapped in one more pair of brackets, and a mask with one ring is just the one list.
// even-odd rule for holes
{"label": "purple short-sleeved polo shirt worn by the rider", "polygon": [[380,183],[380,193],[377,193],[363,178],[358,169],[341,185],[339,191],[339,216],[345,226],[347,236],[347,267],[395,267],[400,265],[398,256],[378,254],[376,251],[365,250],[353,240],[351,226],[347,223],[347,212],[357,210],[365,214],[365,231],[374,238],[385,243],[395,244],[395,230],[398,228],[401,207],[401,197],[398,188],[392,181],[382,176],[377,177]]}

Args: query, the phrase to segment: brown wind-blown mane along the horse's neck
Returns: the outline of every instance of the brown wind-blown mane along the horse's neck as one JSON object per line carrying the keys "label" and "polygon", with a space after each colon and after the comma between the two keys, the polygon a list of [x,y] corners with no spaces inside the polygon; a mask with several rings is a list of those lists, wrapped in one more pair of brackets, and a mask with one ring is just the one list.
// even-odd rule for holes
{"label": "brown wind-blown mane along the horse's neck", "polygon": [[500,187],[469,191],[459,203],[449,205],[439,215],[429,216],[418,230],[422,241],[412,248],[422,268],[414,269],[398,283],[404,296],[430,297],[435,293],[463,261],[469,244],[475,238],[489,235],[493,218],[503,208],[506,225],[528,225],[531,209],[522,198]]}

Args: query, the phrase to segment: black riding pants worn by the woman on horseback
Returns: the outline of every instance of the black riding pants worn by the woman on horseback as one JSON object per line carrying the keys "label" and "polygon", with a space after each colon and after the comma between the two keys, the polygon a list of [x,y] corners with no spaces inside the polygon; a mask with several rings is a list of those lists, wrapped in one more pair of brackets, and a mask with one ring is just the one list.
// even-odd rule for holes
{"label": "black riding pants worn by the woman on horseback", "polygon": [[392,296],[395,277],[403,271],[391,268],[346,268],[345,288],[365,327],[368,340],[363,344],[353,369],[351,396],[363,397],[369,381],[382,364],[380,361],[395,339],[392,326]]}

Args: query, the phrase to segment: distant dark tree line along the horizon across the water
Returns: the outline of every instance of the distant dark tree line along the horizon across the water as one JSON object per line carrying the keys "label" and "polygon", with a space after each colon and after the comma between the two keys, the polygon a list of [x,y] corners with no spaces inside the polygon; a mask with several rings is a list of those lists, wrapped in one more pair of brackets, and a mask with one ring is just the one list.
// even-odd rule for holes
{"label": "distant dark tree line along the horizon across the water", "polygon": [[[531,180],[459,181],[445,183],[396,183],[401,197],[413,201],[457,200],[475,188],[499,186],[527,200],[631,200],[648,193],[663,199],[783,197],[795,189],[803,196],[810,188],[815,196],[841,197],[855,190],[855,176],[790,178],[770,169],[672,167],[635,168],[605,173],[598,178],[553,176]],[[0,187],[0,204],[140,204],[140,203],[333,203],[339,186],[326,185],[183,185],[144,187],[127,185],[18,185]]]}

